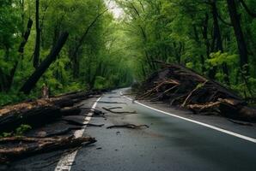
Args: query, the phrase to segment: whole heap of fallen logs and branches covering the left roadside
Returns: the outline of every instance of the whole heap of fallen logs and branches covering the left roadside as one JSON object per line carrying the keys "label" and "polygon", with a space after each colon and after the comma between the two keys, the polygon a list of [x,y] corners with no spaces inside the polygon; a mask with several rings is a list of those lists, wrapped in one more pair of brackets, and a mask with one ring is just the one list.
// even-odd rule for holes
{"label": "whole heap of fallen logs and branches covering the left roadside", "polygon": [[[83,121],[85,113],[104,115],[99,110],[83,109],[78,104],[94,95],[96,95],[94,92],[77,91],[1,108],[0,136],[9,133],[10,137],[0,137],[0,163],[12,162],[23,156],[41,152],[94,143],[93,138],[73,136],[73,131],[85,125],[79,122]],[[76,121],[77,118],[80,120]],[[15,130],[21,125],[29,125],[33,130],[24,133],[22,137],[17,136]],[[86,125],[102,127],[102,125]]]}

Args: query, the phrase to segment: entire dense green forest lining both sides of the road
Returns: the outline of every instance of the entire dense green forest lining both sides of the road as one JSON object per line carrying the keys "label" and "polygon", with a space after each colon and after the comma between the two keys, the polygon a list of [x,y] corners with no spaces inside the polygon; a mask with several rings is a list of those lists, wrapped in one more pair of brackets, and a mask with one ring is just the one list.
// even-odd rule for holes
{"label": "entire dense green forest lining both sides of the road", "polygon": [[[122,10],[119,17],[109,8],[113,2]],[[38,97],[42,85],[52,94],[129,86],[158,70],[155,61],[179,63],[247,100],[255,97],[254,0],[5,0],[0,5],[0,104],[27,98],[24,84],[64,33],[64,47],[29,97]]]}

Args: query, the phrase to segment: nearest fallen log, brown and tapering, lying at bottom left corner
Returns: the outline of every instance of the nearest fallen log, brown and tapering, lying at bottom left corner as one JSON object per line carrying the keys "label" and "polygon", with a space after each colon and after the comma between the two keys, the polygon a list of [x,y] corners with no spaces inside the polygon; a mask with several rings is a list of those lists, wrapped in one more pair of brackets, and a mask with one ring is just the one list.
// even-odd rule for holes
{"label": "nearest fallen log, brown and tapering, lying at bottom left corner", "polygon": [[[82,144],[92,144],[96,142],[94,138],[81,137],[53,137],[46,139],[11,137],[0,139],[0,163],[12,162],[23,156],[31,156],[52,150],[61,150],[81,146]],[[10,146],[12,148],[10,148]]]}

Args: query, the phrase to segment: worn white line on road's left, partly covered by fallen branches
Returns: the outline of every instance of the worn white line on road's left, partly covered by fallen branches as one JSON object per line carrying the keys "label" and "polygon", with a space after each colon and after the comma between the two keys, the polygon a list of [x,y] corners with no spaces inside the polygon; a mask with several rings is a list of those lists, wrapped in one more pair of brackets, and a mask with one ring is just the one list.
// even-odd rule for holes
{"label": "worn white line on road's left, partly covered by fallen branches", "polygon": [[[96,108],[97,103],[101,100],[101,97],[97,99],[97,101],[94,103],[92,109]],[[93,112],[88,113],[88,116],[84,119],[83,123],[84,124],[88,124],[88,122],[91,120],[92,115],[94,115]],[[76,138],[82,137],[82,134],[85,131],[86,126],[84,126],[81,130],[77,130],[74,133],[74,136]],[[77,154],[77,150],[66,155],[66,156],[62,156],[60,161],[58,162],[57,167],[55,168],[55,171],[70,171],[72,164],[75,161],[76,158],[76,154]]]}

